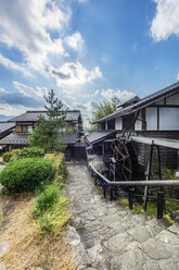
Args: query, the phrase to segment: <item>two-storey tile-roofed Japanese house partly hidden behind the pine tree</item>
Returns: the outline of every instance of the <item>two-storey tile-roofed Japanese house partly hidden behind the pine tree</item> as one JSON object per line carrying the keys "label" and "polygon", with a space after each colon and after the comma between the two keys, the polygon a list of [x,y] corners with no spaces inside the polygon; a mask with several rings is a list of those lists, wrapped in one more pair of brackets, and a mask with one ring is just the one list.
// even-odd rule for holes
{"label": "two-storey tile-roofed Japanese house partly hidden behind the pine tree", "polygon": [[[11,151],[14,148],[22,148],[28,146],[28,136],[39,123],[39,116],[47,118],[47,111],[26,111],[9,120],[8,124],[14,126],[14,132],[0,139],[0,146],[7,146],[7,150]],[[67,144],[65,151],[66,158],[81,158],[86,156],[85,145],[80,144],[80,136],[82,132],[82,119],[79,110],[67,110],[65,112],[65,130],[68,135],[61,137],[60,140]],[[77,145],[78,144],[78,145]],[[82,156],[84,155],[84,156]]]}

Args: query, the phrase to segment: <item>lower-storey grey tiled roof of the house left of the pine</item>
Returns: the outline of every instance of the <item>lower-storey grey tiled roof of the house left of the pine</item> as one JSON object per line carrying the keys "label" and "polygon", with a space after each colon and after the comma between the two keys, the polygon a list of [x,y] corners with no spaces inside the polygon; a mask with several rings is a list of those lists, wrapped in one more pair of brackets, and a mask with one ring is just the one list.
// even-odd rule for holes
{"label": "lower-storey grey tiled roof of the house left of the pine", "polygon": [[0,139],[0,145],[28,145],[28,134],[11,133]]}

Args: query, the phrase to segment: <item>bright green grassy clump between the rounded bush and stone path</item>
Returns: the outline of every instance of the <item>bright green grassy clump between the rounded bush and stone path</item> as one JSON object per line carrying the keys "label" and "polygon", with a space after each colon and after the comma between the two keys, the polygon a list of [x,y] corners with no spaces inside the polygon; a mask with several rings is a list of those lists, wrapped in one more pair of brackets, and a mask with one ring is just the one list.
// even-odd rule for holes
{"label": "bright green grassy clump between the rounded bush and stone path", "polygon": [[59,187],[54,185],[48,185],[43,193],[41,193],[37,200],[36,207],[33,211],[34,217],[41,216],[44,211],[53,206],[60,194]]}

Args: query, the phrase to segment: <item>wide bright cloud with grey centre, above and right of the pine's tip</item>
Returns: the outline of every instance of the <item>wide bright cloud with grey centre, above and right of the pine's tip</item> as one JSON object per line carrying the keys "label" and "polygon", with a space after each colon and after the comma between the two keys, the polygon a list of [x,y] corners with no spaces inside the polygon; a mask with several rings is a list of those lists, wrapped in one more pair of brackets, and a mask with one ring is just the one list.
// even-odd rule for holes
{"label": "wide bright cloud with grey centre, above and right of the pine's tip", "polygon": [[81,63],[64,63],[61,68],[54,69],[49,65],[49,73],[56,79],[59,86],[84,85],[95,78],[102,78],[99,66],[88,71]]}

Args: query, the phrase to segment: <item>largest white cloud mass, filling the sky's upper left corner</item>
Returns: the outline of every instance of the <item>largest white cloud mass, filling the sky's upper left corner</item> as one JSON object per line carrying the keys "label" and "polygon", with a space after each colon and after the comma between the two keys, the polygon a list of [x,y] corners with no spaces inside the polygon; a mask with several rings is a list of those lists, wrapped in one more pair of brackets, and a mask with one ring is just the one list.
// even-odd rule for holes
{"label": "largest white cloud mass, filling the sky's upper left corner", "polygon": [[71,10],[63,1],[0,0],[0,7],[1,42],[21,50],[29,68],[40,72],[49,53],[65,56],[62,40],[52,39],[48,32],[62,30],[68,23]]}

